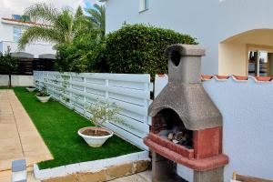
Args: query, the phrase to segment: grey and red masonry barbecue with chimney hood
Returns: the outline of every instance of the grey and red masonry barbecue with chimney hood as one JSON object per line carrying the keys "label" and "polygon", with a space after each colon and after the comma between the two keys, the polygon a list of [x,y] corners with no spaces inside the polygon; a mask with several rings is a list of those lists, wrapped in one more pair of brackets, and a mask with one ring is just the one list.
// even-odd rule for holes
{"label": "grey and red masonry barbecue with chimney hood", "polygon": [[153,182],[184,181],[173,179],[177,167],[187,180],[221,182],[228,157],[222,154],[222,116],[201,84],[205,49],[170,45],[166,55],[168,84],[149,106],[152,126],[144,138]]}

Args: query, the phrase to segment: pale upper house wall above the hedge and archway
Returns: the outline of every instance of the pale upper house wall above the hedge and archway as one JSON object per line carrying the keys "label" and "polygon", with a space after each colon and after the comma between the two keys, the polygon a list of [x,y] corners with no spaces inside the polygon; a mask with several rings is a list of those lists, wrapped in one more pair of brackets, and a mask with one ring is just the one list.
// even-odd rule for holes
{"label": "pale upper house wall above the hedge and archway", "polygon": [[174,29],[197,37],[207,49],[202,73],[218,73],[218,44],[232,35],[273,28],[271,0],[149,0],[149,9],[138,13],[137,0],[106,0],[106,33],[126,22]]}

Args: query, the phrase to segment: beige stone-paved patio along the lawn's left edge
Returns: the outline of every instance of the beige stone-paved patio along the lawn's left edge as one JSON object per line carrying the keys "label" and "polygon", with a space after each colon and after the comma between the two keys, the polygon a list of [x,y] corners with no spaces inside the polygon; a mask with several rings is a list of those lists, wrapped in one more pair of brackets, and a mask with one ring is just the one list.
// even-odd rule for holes
{"label": "beige stone-paved patio along the lawn's left edge", "polygon": [[0,182],[10,181],[11,162],[22,158],[27,167],[53,159],[14,91],[0,90]]}

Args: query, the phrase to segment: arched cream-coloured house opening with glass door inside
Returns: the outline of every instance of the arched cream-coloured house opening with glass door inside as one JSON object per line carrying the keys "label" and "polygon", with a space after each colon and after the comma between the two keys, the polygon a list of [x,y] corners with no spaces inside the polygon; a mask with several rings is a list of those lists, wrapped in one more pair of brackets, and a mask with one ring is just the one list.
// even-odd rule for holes
{"label": "arched cream-coloured house opening with glass door inside", "polygon": [[273,29],[255,29],[219,44],[219,74],[273,75]]}

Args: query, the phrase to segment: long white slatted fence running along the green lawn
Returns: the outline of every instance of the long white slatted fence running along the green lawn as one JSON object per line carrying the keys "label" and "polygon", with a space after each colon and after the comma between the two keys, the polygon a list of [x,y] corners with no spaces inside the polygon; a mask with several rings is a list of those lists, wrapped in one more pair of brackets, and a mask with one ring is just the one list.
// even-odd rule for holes
{"label": "long white slatted fence running along the green lawn", "polygon": [[147,115],[153,89],[149,75],[35,71],[34,77],[37,87],[46,86],[56,100],[85,116],[90,115],[86,112],[86,104],[95,104],[97,98],[116,103],[121,108],[119,117],[126,125],[108,122],[104,126],[148,150],[142,138],[147,136],[151,123]]}

